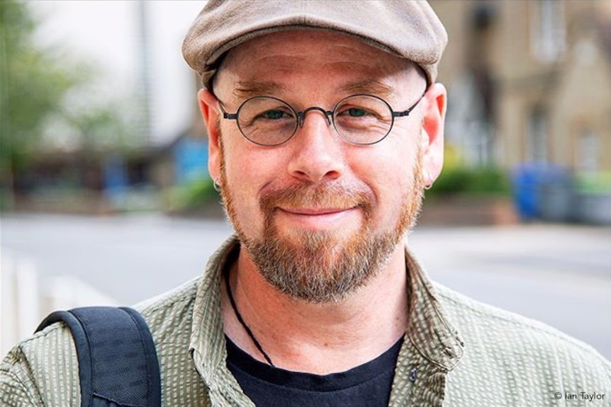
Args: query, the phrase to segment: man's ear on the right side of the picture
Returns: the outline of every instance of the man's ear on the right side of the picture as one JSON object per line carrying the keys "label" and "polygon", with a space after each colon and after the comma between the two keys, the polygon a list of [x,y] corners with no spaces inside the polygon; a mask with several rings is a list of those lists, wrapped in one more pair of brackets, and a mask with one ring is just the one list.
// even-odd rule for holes
{"label": "man's ear on the right side of the picture", "polygon": [[444,122],[447,92],[442,84],[433,84],[425,94],[426,110],[422,121],[422,151],[425,182],[432,183],[442,172],[444,164]]}

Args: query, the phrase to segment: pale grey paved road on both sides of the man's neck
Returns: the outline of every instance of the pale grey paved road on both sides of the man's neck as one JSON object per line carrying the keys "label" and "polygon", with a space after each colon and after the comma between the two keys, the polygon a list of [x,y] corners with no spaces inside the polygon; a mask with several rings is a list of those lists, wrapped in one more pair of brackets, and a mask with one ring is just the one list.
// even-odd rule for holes
{"label": "pale grey paved road on both sides of the man's neck", "polygon": [[[223,222],[157,215],[0,222],[3,253],[33,260],[43,275],[79,277],[125,304],[196,277],[230,234]],[[409,241],[435,280],[540,319],[611,358],[610,228],[422,227]]]}

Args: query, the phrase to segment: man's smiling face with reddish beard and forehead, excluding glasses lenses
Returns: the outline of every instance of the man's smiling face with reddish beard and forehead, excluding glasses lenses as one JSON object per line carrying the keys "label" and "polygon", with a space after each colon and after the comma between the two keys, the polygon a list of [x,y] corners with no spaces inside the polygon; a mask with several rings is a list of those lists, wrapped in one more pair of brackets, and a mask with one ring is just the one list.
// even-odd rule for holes
{"label": "man's smiling face with reddish beard and forehead, excluding glasses lenses", "polygon": [[[214,91],[231,113],[253,96],[273,96],[301,111],[331,110],[357,93],[405,110],[425,86],[408,62],[363,42],[290,31],[232,50]],[[235,121],[220,120],[218,129],[208,123],[218,133],[218,142],[211,135],[211,174],[220,177],[245,254],[268,282],[297,299],[332,302],[375,275],[420,208],[426,103],[369,146],[342,139],[317,110],[276,147],[248,141]]]}

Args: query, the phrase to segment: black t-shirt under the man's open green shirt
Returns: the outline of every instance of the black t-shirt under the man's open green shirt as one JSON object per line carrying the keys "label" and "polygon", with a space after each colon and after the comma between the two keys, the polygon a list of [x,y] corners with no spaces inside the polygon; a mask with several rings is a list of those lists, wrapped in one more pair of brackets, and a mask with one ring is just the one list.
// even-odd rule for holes
{"label": "black t-shirt under the man's open green shirt", "polygon": [[257,407],[388,406],[403,338],[371,362],[320,376],[271,367],[227,338],[227,366]]}

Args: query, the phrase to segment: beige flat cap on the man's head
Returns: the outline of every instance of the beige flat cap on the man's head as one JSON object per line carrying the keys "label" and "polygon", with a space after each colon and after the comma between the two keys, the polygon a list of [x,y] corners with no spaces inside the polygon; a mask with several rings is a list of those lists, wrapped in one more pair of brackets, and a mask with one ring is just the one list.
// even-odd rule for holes
{"label": "beige flat cap on the man's head", "polygon": [[447,44],[444,26],[422,0],[210,0],[189,28],[182,53],[208,84],[232,47],[258,35],[313,28],[409,59],[422,67],[429,84]]}

